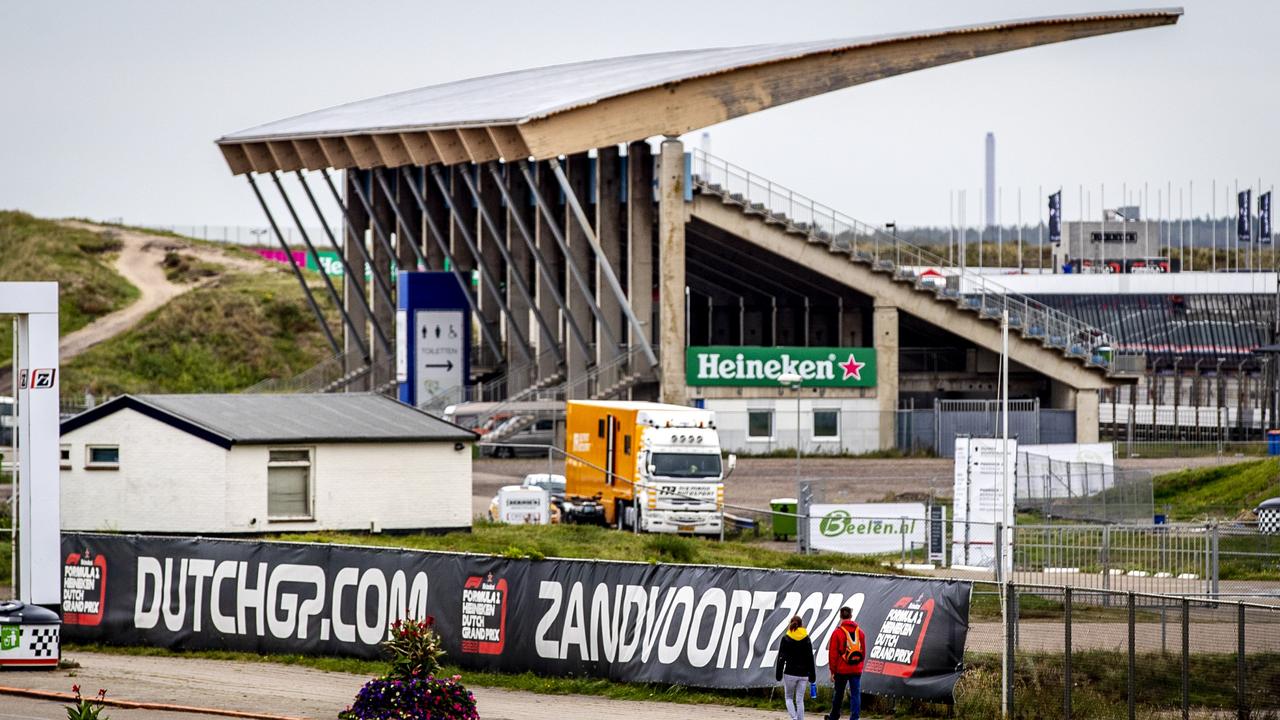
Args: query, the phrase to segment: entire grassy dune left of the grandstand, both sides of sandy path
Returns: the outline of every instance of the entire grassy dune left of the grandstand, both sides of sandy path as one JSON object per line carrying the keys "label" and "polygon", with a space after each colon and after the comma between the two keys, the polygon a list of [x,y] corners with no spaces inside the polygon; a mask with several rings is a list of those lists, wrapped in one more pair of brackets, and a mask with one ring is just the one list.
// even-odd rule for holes
{"label": "entire grassy dune left of the grandstand, both sides of sandy path", "polygon": [[[82,328],[140,296],[114,269],[122,243],[113,232],[137,229],[104,225],[104,231],[0,211],[0,281],[58,281],[61,334]],[[332,355],[285,266],[237,247],[151,234],[179,247],[165,254],[165,273],[170,282],[193,290],[64,361],[65,398],[86,391],[100,398],[125,392],[233,392],[268,377],[294,375]],[[314,281],[323,297],[319,277]],[[330,327],[338,327],[335,315]],[[10,324],[0,322],[0,364],[8,363],[10,332]]]}

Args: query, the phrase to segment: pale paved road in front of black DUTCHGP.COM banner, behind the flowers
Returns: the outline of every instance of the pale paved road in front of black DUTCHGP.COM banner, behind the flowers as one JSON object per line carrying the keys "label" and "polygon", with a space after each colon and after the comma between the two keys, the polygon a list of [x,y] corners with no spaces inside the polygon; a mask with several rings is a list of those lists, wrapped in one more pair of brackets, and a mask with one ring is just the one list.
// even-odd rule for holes
{"label": "pale paved road in front of black DUTCHGP.COM banner, behind the flowers", "polygon": [[[69,692],[106,688],[110,697],[131,701],[216,707],[293,717],[334,717],[367,680],[362,675],[325,673],[270,662],[133,657],[76,652],[77,670],[0,673],[0,685]],[[564,720],[627,717],[627,720],[776,720],[783,711],[762,711],[667,702],[617,701],[599,697],[544,696],[499,688],[472,688],[485,720]],[[781,703],[781,701],[780,701]],[[205,715],[108,710],[113,720],[179,720]],[[61,705],[0,696],[0,720],[65,717]]]}

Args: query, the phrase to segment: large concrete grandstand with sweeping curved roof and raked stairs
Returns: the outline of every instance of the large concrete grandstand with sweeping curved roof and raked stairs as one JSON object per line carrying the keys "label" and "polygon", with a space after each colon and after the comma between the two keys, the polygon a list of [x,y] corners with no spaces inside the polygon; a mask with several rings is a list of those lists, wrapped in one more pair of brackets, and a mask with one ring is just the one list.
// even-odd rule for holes
{"label": "large concrete grandstand with sweeping curved roof and raked stairs", "polygon": [[[343,377],[333,387],[393,379],[396,288],[385,278],[394,261],[477,278],[463,283],[481,338],[471,382],[428,402],[495,400],[520,415],[521,402],[549,397],[631,396],[696,402],[744,425],[755,409],[771,414],[768,436],[778,441],[805,427],[817,437],[817,414],[835,413],[838,451],[892,447],[904,400],[995,396],[1007,313],[1014,393],[1073,411],[1075,437],[1093,441],[1098,391],[1124,380],[1110,372],[1105,329],[686,152],[678,137],[874,79],[1179,15],[1100,13],[573,63],[352,102],[218,143],[260,199],[255,178],[270,178],[300,232],[280,176],[296,176],[317,214],[319,184],[343,209],[328,240],[349,266],[372,268],[370,281],[344,274],[343,341],[334,343]],[[654,137],[663,138],[657,152]],[[343,170],[339,183],[330,170]],[[931,282],[922,266],[946,268],[963,290]],[[791,414],[788,430],[794,391],[692,378],[692,348],[721,346],[829,348],[831,361],[849,350],[846,380],[865,364],[851,351],[870,351],[874,379],[805,384],[808,414]],[[829,432],[828,415],[820,421]]]}

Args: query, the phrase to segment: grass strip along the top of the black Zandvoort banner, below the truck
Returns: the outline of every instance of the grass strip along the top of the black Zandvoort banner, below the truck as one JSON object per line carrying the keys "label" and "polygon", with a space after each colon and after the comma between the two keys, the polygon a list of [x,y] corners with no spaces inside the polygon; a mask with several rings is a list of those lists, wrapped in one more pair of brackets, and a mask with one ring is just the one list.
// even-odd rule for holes
{"label": "grass strip along the top of the black Zandvoort banner, below the truck", "polygon": [[477,552],[503,557],[582,557],[641,562],[692,562],[780,568],[788,570],[844,570],[892,573],[878,560],[849,555],[796,555],[772,550],[760,542],[632,534],[593,525],[503,525],[476,523],[470,533],[367,534],[305,533],[270,539],[347,543],[413,550]]}

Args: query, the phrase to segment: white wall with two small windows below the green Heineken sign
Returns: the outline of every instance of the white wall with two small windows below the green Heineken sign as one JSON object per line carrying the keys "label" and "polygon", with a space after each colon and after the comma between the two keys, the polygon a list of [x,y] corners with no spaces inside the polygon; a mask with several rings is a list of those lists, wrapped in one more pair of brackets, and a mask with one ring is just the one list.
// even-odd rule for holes
{"label": "white wall with two small windows below the green Heineken sign", "polygon": [[[762,454],[796,446],[796,400],[791,397],[707,398],[704,405],[716,411],[716,429],[721,447],[730,452]],[[773,437],[749,438],[748,411],[773,411]],[[813,411],[838,410],[840,437],[813,437]],[[860,454],[879,447],[879,410],[876,398],[804,397],[800,400],[800,441],[806,455]]]}

